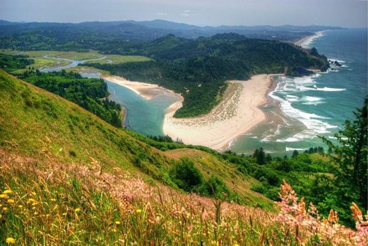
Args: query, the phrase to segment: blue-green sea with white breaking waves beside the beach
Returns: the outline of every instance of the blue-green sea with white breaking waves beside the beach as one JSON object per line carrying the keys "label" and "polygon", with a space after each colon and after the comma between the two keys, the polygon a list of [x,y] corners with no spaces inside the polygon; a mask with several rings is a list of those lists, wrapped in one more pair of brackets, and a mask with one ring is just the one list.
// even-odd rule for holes
{"label": "blue-green sea with white breaking waves beside the beach", "polygon": [[333,139],[345,120],[354,120],[353,111],[363,106],[368,90],[367,29],[324,31],[301,45],[342,66],[301,78],[275,77],[262,108],[268,120],[235,139],[232,151],[251,154],[263,147],[273,156],[290,156],[293,150],[326,148],[318,136]]}

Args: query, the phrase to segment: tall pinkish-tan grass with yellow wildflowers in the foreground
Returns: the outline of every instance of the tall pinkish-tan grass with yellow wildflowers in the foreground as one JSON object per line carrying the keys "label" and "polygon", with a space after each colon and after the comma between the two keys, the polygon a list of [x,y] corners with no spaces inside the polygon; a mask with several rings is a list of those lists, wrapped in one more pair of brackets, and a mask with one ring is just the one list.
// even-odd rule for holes
{"label": "tall pinkish-tan grass with yellow wildflowers in the foreground", "polygon": [[[16,143],[11,142],[16,148]],[[48,147],[49,149],[50,147]],[[284,183],[279,214],[184,194],[119,168],[48,161],[0,150],[0,245],[363,245],[357,231],[309,212]],[[310,206],[310,208],[313,208]]]}

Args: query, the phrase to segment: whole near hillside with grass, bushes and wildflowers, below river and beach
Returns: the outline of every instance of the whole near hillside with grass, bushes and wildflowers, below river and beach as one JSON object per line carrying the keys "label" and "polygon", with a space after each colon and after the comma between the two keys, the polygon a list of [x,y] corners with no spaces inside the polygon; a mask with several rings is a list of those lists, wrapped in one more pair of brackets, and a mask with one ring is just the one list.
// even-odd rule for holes
{"label": "whole near hillside with grass, bushes and wildflowers, below river and beach", "polygon": [[[334,165],[352,162],[330,164],[329,158],[315,153],[263,162],[262,149],[251,157],[210,149],[207,153],[187,148],[162,152],[126,134],[129,130],[112,127],[1,70],[0,105],[1,244],[367,244],[367,222],[356,204],[352,212],[357,231],[353,231],[338,223],[344,215],[339,210],[322,213],[325,219],[320,219],[313,205],[307,206],[279,180],[290,180],[306,193],[308,189],[301,187],[317,180],[319,173],[328,174]],[[352,126],[349,132],[366,130],[357,130],[364,112],[360,110],[357,121],[347,124]],[[362,140],[367,139],[365,134]],[[343,152],[355,149],[349,152],[352,157],[358,152],[367,156],[366,142],[349,143]],[[365,158],[359,158],[359,163]],[[338,169],[354,173],[343,166]],[[262,182],[245,173],[260,176]],[[335,178],[331,176],[333,182]],[[185,194],[161,181],[216,199]],[[262,195],[245,189],[249,183],[261,188],[281,184],[276,213],[236,203],[269,204]],[[349,184],[331,186],[332,190],[325,182],[320,185],[314,189],[334,193]],[[309,197],[316,194],[320,193],[311,191]],[[231,200],[236,202],[226,202]]]}

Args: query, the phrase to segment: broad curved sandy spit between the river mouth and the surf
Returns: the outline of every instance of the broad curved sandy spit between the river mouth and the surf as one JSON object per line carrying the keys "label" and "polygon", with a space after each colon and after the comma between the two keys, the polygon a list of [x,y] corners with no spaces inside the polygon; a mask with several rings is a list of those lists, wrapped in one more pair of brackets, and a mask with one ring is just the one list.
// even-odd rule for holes
{"label": "broad curved sandy spit between the river mouth and the surf", "polygon": [[248,81],[229,81],[223,101],[209,114],[190,119],[176,119],[173,115],[181,107],[178,102],[165,116],[163,131],[185,144],[223,149],[229,143],[266,120],[259,107],[267,103],[272,77],[283,74],[255,75]]}

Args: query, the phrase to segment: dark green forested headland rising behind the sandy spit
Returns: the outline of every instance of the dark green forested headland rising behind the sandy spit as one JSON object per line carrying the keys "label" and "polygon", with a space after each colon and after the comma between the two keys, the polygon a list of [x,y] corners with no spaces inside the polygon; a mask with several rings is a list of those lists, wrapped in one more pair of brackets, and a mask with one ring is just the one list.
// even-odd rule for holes
{"label": "dark green forested headland rising behind the sandy spit", "polygon": [[176,117],[208,113],[225,89],[226,80],[247,80],[254,74],[303,75],[307,68],[324,70],[327,58],[298,46],[265,39],[246,38],[236,33],[184,39],[169,34],[144,45],[126,44],[106,53],[145,55],[148,62],[88,64],[133,81],[164,86],[181,93],[183,108]]}

